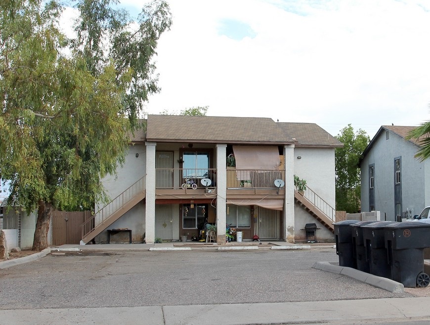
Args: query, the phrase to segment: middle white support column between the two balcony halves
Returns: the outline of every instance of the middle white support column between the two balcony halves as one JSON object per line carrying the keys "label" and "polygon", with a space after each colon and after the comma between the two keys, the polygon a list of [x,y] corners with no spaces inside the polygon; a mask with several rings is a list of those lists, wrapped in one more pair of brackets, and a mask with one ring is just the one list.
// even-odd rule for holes
{"label": "middle white support column between the two balcony halves", "polygon": [[216,145],[216,243],[225,244],[225,202],[227,196],[226,144]]}

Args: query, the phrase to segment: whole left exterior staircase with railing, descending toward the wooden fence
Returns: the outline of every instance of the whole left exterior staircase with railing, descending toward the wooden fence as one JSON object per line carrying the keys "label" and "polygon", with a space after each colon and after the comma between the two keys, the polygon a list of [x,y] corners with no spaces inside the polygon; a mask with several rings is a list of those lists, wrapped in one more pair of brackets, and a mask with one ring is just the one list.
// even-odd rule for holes
{"label": "whole left exterior staircase with railing, descending toward the wooden fence", "polygon": [[87,244],[133,206],[145,199],[145,177],[143,176],[82,224],[81,244]]}

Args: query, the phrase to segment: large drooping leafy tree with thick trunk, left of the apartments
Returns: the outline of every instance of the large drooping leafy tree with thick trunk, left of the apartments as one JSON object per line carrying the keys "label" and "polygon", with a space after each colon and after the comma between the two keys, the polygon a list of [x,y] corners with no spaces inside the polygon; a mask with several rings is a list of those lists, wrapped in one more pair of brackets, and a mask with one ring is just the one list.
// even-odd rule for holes
{"label": "large drooping leafy tree with thick trunk, left of the apartments", "polygon": [[0,1],[0,179],[10,181],[9,205],[38,211],[34,250],[47,247],[52,209],[103,199],[100,179],[124,162],[143,102],[158,91],[151,62],[169,7],[151,2],[132,25],[110,2],[78,1],[68,41],[55,0]]}

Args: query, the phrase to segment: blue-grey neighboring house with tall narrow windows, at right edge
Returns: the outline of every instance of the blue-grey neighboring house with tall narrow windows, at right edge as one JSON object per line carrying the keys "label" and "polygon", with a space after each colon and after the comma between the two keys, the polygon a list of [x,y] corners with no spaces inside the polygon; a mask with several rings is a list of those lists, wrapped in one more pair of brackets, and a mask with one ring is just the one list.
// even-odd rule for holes
{"label": "blue-grey neighboring house with tall narrow windows, at right edge", "polygon": [[415,158],[421,139],[406,140],[416,126],[383,125],[360,161],[361,210],[401,221],[430,205],[430,161]]}

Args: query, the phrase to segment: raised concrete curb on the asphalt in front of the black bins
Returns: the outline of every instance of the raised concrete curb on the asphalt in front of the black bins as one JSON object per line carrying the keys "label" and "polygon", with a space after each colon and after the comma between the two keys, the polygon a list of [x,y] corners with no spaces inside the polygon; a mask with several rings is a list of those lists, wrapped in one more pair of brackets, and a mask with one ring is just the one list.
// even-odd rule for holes
{"label": "raised concrete curb on the asphalt in front of the black bins", "polygon": [[378,288],[387,290],[393,293],[404,293],[405,288],[403,284],[393,281],[391,279],[378,277],[373,274],[362,272],[350,267],[339,266],[335,262],[315,262],[313,268],[321,271],[345,275],[358,281],[376,286]]}

